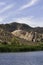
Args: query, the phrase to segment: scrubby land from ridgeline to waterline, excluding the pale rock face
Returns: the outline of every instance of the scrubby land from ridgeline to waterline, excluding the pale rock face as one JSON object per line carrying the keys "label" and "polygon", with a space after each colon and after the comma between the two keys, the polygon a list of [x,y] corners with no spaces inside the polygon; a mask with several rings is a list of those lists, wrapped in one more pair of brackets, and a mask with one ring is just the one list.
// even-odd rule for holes
{"label": "scrubby land from ridgeline to waterline, excluding the pale rock face", "polygon": [[[26,52],[43,50],[43,42],[29,42],[12,35],[11,32],[18,29],[27,32],[38,32],[38,34],[41,33],[41,40],[43,41],[43,27],[32,28],[26,24],[20,23],[0,24],[0,52]],[[40,39],[38,38],[38,40]]]}

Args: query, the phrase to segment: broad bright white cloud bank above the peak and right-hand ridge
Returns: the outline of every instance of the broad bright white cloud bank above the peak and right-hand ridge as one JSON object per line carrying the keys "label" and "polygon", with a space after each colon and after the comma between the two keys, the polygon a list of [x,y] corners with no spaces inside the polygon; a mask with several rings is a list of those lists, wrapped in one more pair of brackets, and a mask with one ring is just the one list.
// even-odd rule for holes
{"label": "broad bright white cloud bank above the peak and right-hand ridge", "polygon": [[13,18],[10,22],[12,21],[18,22],[18,23],[25,23],[25,24],[30,25],[31,27],[39,27],[39,26],[43,27],[43,19],[37,19],[37,18],[34,18],[34,16]]}

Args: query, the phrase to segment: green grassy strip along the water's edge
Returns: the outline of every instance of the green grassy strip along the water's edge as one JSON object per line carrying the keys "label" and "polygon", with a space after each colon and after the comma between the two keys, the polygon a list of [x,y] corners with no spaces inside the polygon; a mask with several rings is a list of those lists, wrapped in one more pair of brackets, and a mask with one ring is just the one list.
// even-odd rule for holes
{"label": "green grassy strip along the water's edge", "polygon": [[33,43],[31,45],[0,44],[0,52],[27,52],[40,50],[43,50],[43,42]]}

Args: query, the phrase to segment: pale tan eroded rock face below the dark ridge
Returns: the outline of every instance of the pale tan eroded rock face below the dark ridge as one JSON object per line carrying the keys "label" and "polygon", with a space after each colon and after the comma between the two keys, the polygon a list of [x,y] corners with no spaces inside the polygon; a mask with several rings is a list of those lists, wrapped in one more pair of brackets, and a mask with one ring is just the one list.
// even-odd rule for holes
{"label": "pale tan eroded rock face below the dark ridge", "polygon": [[23,30],[15,30],[12,32],[14,36],[17,36],[19,38],[26,39],[28,41],[33,41],[33,42],[39,42],[43,40],[43,34],[37,33],[37,32],[26,32]]}

